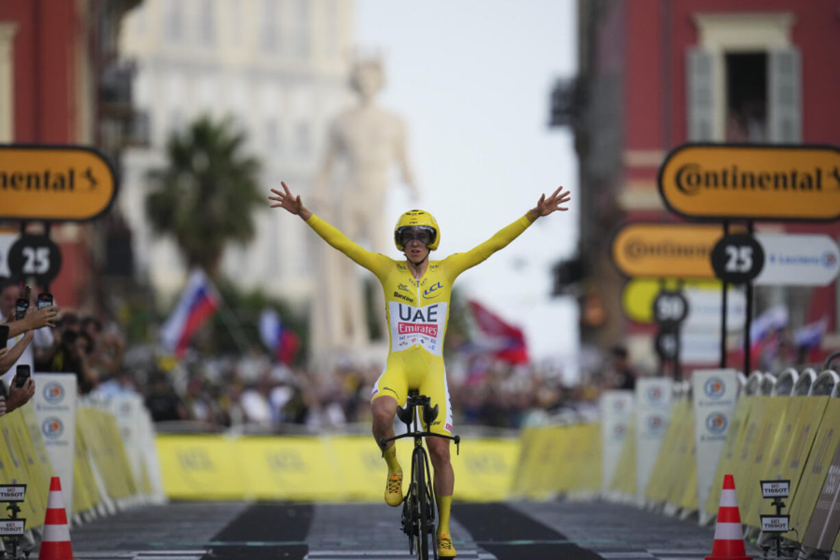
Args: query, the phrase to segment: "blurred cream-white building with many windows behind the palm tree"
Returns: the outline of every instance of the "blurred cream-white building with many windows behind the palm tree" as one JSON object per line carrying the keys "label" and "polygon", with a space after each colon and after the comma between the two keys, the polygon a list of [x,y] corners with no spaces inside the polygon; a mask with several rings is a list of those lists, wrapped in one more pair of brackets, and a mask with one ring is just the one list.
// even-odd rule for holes
{"label": "blurred cream-white building with many windows behind the palm tree", "polygon": [[[163,301],[186,277],[175,243],[155,238],[145,217],[146,176],[165,166],[169,135],[204,115],[230,117],[262,163],[260,193],[282,179],[305,198],[328,121],[349,99],[352,16],[351,0],[145,0],[129,13],[121,59],[134,72],[149,142],[125,153],[119,208],[133,234],[136,276]],[[267,204],[255,222],[255,240],[225,251],[224,275],[239,288],[307,301],[312,252],[299,247],[314,241]]]}

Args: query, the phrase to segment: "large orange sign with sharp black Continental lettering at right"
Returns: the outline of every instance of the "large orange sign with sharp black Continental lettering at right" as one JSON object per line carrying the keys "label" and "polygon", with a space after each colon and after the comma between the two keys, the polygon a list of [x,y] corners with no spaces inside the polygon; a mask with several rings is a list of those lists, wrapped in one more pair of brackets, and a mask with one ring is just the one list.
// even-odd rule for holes
{"label": "large orange sign with sharp black Continental lettering at right", "polygon": [[840,219],[840,150],[686,144],[659,168],[669,210],[706,219]]}

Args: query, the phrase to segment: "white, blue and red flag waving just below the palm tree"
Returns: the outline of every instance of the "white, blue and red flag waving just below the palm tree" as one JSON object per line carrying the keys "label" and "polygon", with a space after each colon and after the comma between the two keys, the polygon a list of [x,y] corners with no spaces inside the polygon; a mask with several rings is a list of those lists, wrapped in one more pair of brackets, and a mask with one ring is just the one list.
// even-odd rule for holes
{"label": "white, blue and red flag waving just below the palm tree", "polygon": [[183,357],[192,335],[216,313],[220,302],[207,275],[198,269],[192,271],[181,299],[160,330],[164,348]]}

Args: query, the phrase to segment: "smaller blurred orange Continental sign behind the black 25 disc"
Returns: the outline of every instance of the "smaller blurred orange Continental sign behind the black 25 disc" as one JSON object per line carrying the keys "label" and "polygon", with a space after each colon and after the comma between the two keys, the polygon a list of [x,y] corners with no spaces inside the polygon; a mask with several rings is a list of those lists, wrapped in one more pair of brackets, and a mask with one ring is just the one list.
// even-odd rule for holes
{"label": "smaller blurred orange Continental sign behind the black 25 disc", "polygon": [[628,277],[714,278],[711,250],[720,226],[637,222],[612,239],[612,260]]}

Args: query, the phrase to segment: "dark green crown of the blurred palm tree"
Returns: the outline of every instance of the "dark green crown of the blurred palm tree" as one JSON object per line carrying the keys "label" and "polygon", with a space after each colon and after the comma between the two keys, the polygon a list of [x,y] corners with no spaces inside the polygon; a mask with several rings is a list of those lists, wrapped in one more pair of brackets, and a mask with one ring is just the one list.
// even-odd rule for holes
{"label": "dark green crown of the blurred palm tree", "polygon": [[253,239],[251,212],[263,203],[260,161],[244,154],[245,135],[231,119],[205,116],[166,143],[168,165],[149,173],[146,214],[159,235],[173,235],[188,267],[218,279],[228,241]]}

